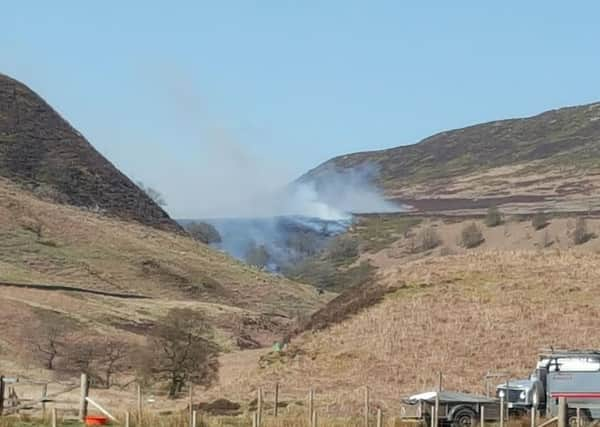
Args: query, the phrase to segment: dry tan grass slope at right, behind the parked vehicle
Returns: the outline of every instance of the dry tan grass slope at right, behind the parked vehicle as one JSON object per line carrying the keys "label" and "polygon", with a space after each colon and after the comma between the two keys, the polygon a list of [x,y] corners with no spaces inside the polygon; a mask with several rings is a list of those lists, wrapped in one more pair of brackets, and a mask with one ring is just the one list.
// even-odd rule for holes
{"label": "dry tan grass slope at right, behind the parked vehicle", "polygon": [[572,250],[475,251],[389,267],[381,283],[406,285],[384,302],[306,333],[289,357],[220,393],[275,381],[296,395],[314,387],[333,413],[360,407],[369,385],[393,411],[432,388],[438,371],[448,389],[481,392],[488,370],[527,375],[540,347],[600,347],[598,262]]}

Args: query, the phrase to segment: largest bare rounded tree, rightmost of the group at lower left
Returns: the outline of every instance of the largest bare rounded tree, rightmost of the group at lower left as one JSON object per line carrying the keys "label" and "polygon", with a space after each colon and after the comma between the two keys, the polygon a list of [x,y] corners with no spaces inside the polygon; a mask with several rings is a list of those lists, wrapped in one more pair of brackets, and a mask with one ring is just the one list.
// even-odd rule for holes
{"label": "largest bare rounded tree, rightmost of the group at lower left", "polygon": [[218,374],[218,349],[207,337],[212,329],[198,312],[171,309],[156,325],[144,353],[145,372],[169,384],[175,398],[188,383],[208,386]]}

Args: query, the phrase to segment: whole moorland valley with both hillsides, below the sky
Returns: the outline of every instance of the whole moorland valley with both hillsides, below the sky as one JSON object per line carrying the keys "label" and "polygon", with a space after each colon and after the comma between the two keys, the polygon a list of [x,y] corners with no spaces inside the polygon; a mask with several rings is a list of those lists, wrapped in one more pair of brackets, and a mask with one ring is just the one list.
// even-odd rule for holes
{"label": "whole moorland valley with both hillsides, below the sky", "polygon": [[[488,371],[526,375],[539,347],[600,346],[598,104],[333,159],[294,183],[286,203],[310,203],[297,214],[174,221],[45,101],[8,78],[2,91],[2,372],[55,384],[86,366],[114,407],[148,382],[149,410],[184,409],[183,386],[168,399],[136,357],[201,325],[190,336],[218,375],[199,401],[247,415],[280,384],[286,414],[312,389],[320,413],[343,417],[365,386],[397,414],[439,372],[482,392]],[[57,368],[31,342],[48,325],[62,330]],[[135,356],[122,389],[103,389],[78,345],[107,337]]]}

